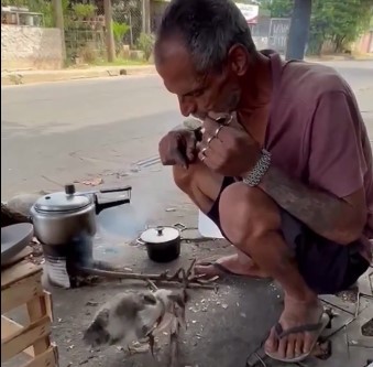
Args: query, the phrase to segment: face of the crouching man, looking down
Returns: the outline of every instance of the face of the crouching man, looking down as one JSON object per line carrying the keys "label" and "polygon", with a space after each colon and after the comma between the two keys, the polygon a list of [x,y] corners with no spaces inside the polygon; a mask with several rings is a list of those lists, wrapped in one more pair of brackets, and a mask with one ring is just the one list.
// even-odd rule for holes
{"label": "face of the crouching man, looking down", "polygon": [[190,55],[176,40],[164,41],[157,54],[156,69],[165,87],[177,95],[184,116],[204,119],[209,112],[228,114],[237,109],[241,87],[229,61],[221,73],[199,75]]}

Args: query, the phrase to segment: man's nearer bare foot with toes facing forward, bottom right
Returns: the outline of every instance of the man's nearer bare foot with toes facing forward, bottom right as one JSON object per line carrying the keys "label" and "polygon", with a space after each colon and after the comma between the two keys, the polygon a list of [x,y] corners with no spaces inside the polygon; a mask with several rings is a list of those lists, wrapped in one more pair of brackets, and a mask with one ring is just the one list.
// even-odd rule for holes
{"label": "man's nearer bare foot with toes facing forward, bottom right", "polygon": [[[293,359],[303,354],[308,354],[315,341],[318,338],[320,331],[297,331],[286,336],[278,337],[281,330],[283,333],[294,327],[318,324],[322,315],[322,305],[317,298],[311,301],[301,302],[285,296],[285,310],[282,313],[278,324],[274,326],[265,342],[265,352],[279,358]],[[279,330],[278,330],[279,328]]]}

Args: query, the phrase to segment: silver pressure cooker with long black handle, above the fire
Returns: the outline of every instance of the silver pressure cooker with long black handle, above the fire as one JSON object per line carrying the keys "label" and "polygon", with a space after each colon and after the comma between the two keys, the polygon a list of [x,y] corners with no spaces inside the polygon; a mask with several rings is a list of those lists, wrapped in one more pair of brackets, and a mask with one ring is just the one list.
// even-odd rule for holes
{"label": "silver pressure cooker with long black handle, above the fire", "polygon": [[[131,186],[76,192],[74,184],[64,192],[44,195],[31,208],[36,238],[44,245],[58,246],[91,238],[97,231],[96,215],[106,208],[129,204]],[[97,194],[124,193],[116,201],[100,203]]]}

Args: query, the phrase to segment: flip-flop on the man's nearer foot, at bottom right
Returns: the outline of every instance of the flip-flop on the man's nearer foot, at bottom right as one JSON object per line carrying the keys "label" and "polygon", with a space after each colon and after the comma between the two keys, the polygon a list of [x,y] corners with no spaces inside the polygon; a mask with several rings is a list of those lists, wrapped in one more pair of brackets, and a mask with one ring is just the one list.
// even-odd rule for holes
{"label": "flip-flop on the man's nearer foot, at bottom right", "polygon": [[290,328],[287,328],[287,330],[284,331],[283,326],[279,323],[277,323],[275,325],[275,333],[276,333],[276,336],[277,336],[278,339],[282,339],[283,337],[285,337],[289,334],[296,334],[296,333],[303,333],[303,332],[316,332],[317,335],[316,335],[316,337],[315,337],[315,339],[311,344],[309,352],[304,353],[300,356],[297,356],[295,358],[282,358],[276,353],[265,352],[265,354],[272,359],[288,363],[288,364],[301,361],[311,354],[319,336],[321,335],[323,330],[326,327],[328,327],[329,324],[330,324],[330,316],[325,312],[322,312],[322,314],[320,316],[320,321],[317,324],[306,324],[306,325],[301,325],[301,326],[290,327]]}

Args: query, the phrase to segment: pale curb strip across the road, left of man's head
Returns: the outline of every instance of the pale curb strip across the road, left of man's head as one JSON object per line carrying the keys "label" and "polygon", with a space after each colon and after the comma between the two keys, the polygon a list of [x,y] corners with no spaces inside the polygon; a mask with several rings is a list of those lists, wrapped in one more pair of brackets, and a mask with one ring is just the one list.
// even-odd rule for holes
{"label": "pale curb strip across the road, left of man's head", "polygon": [[110,67],[92,69],[64,69],[43,72],[10,72],[1,74],[1,86],[25,85],[36,83],[67,82],[76,79],[91,79],[102,77],[125,77],[127,75],[155,74],[154,65],[142,67]]}

